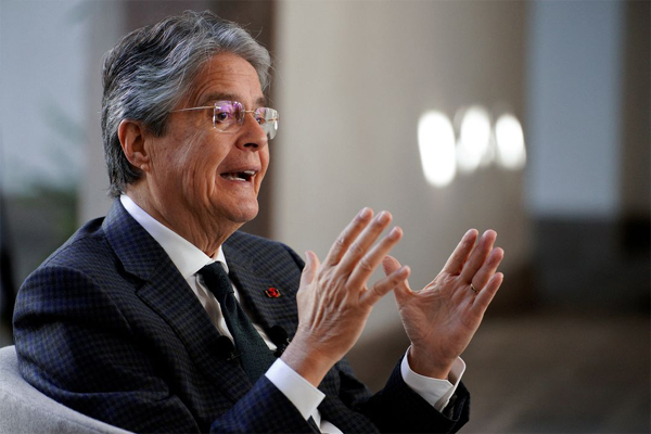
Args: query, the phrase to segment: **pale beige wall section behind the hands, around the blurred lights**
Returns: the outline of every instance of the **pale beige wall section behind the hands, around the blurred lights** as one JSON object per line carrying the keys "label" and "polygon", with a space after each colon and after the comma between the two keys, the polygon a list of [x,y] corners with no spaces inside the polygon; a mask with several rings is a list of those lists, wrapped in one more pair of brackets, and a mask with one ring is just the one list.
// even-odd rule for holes
{"label": "pale beige wall section behind the hands, around the blurred lights", "polygon": [[[282,1],[278,17],[273,238],[323,258],[362,206],[388,209],[405,230],[395,254],[420,289],[468,228],[494,228],[503,291],[518,291],[509,272],[529,254],[523,173],[493,166],[436,189],[417,125],[426,110],[452,118],[475,103],[523,118],[523,2]],[[398,321],[386,297],[362,341]]]}

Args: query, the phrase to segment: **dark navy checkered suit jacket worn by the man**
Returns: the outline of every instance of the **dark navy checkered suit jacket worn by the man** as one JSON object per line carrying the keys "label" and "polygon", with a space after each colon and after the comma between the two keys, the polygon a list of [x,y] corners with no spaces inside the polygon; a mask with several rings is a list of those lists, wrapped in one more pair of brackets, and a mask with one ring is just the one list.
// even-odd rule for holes
{"label": "dark navy checkered suit jacket worn by the man", "polygon": [[[296,330],[303,261],[283,244],[234,233],[229,268],[265,329]],[[264,291],[283,294],[268,298]],[[116,201],[23,284],[15,307],[23,376],[82,413],[136,432],[310,432],[265,376],[252,384],[216,344],[219,332],[165,251]],[[394,370],[371,396],[345,360],[319,387],[344,432],[454,431],[468,420],[461,385],[446,416]]]}

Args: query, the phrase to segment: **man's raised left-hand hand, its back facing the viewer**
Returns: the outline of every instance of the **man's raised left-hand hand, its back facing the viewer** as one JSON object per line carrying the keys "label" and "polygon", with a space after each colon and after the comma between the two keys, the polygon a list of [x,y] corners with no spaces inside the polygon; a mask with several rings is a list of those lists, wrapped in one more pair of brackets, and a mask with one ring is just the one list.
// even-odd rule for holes
{"label": "man's raised left-hand hand, its back facing the viewer", "polygon": [[370,289],[368,279],[382,259],[403,238],[391,224],[391,214],[375,218],[362,209],[330,248],[323,264],[312,252],[307,260],[298,304],[298,329],[282,359],[294,371],[317,386],[328,370],[357,342],[372,307],[399,284],[405,285],[409,268],[397,266]]}

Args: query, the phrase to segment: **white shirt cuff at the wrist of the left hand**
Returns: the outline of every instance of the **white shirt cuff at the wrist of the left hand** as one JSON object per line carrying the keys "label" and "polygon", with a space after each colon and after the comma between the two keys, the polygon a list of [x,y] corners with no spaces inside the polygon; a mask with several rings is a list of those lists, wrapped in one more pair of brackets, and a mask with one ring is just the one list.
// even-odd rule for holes
{"label": "white shirt cuff at the wrist of the left hand", "polygon": [[305,420],[312,416],[326,397],[326,394],[312,386],[281,359],[276,359],[265,375],[288,397]]}

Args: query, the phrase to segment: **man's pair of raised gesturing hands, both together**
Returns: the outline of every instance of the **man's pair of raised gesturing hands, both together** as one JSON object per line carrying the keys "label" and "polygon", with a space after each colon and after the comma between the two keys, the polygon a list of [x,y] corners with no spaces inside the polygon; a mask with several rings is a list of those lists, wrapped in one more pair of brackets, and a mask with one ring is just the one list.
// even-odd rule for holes
{"label": "man's pair of raised gesturing hands, both together", "polygon": [[[282,359],[315,386],[355,345],[373,306],[392,290],[411,341],[411,369],[447,379],[502,282],[496,271],[503,252],[493,246],[497,234],[486,231],[477,243],[478,233],[472,229],[441,273],[422,291],[411,291],[409,267],[387,256],[403,231],[396,227],[381,237],[391,219],[386,212],[373,218],[365,208],[340,234],[323,264],[315,253],[306,253],[296,296],[298,329]],[[380,264],[386,277],[369,288]]]}

